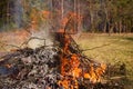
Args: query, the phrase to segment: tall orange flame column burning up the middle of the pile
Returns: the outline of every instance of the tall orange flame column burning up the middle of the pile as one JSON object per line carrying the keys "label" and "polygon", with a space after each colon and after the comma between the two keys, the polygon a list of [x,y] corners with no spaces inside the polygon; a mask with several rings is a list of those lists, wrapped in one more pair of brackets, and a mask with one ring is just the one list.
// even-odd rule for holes
{"label": "tall orange flame column burning up the middle of the pile", "polygon": [[[61,56],[61,75],[63,78],[59,81],[59,85],[64,89],[78,89],[78,78],[81,75],[79,56],[69,51],[69,44],[71,43],[68,36],[64,37],[63,53]],[[65,55],[71,55],[66,57]]]}

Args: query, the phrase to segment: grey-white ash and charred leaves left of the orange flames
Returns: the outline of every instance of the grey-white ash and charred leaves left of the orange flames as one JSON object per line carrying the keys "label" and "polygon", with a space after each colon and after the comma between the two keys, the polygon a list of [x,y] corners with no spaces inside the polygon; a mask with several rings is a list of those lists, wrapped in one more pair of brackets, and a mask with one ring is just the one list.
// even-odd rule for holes
{"label": "grey-white ash and charred leaves left of the orange flames", "polygon": [[19,49],[0,61],[0,89],[57,89],[59,56],[54,47]]}

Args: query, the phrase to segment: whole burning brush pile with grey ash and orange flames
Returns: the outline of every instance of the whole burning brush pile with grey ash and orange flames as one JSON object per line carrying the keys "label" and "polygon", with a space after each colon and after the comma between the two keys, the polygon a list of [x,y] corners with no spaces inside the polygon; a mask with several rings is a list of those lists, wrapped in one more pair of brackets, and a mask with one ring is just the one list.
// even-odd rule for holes
{"label": "whole burning brush pile with grey ash and orange flames", "polygon": [[0,60],[0,89],[106,89],[112,85],[101,83],[105,65],[85,57],[69,34],[57,33],[53,46],[17,49]]}

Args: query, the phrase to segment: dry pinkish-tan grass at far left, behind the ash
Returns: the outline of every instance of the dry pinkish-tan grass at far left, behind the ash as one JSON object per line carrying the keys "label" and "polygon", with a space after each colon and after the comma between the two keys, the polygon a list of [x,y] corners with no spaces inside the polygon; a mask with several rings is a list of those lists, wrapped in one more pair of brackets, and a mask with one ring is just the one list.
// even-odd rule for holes
{"label": "dry pinkish-tan grass at far left, behind the ash", "polygon": [[29,37],[25,30],[6,31],[0,32],[0,52],[7,52],[11,49],[17,49]]}

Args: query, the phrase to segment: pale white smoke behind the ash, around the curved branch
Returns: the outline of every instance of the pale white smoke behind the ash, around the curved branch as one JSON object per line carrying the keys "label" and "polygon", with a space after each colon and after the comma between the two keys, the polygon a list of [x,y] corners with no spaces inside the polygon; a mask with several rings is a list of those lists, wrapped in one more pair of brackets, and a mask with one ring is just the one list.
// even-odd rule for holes
{"label": "pale white smoke behind the ash, around the curved branch", "polygon": [[44,44],[52,46],[53,41],[49,29],[50,27],[48,24],[43,24],[42,27],[40,27],[39,31],[32,32],[31,38],[37,38],[37,39],[31,39],[28,43],[28,47],[35,49]]}

